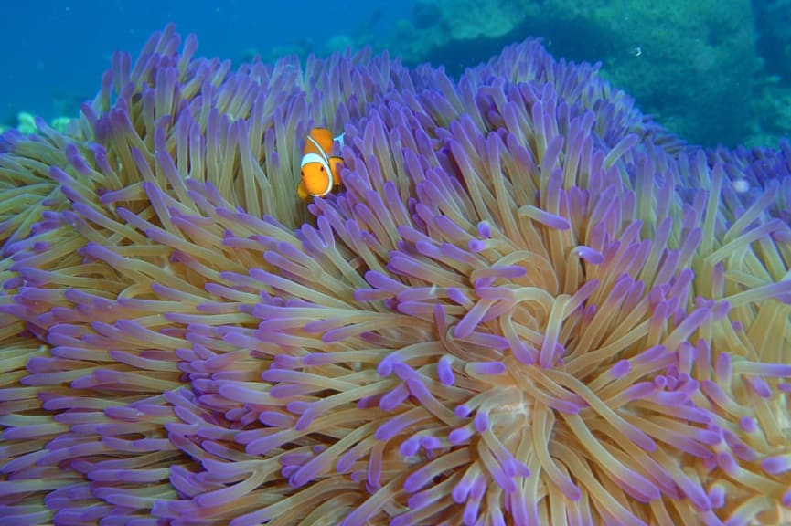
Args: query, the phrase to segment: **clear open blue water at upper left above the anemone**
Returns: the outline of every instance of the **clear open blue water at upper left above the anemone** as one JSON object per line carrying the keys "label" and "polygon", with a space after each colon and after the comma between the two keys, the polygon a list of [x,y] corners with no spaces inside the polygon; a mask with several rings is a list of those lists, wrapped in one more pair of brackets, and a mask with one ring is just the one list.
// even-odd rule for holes
{"label": "clear open blue water at upper left above the anemone", "polygon": [[[273,7],[277,5],[277,7]],[[175,22],[198,35],[198,54],[240,59],[250,50],[315,46],[361,25],[384,31],[409,16],[411,1],[318,2],[79,0],[0,2],[0,125],[25,110],[75,115],[93,97],[116,49],[133,57],[155,30]]]}

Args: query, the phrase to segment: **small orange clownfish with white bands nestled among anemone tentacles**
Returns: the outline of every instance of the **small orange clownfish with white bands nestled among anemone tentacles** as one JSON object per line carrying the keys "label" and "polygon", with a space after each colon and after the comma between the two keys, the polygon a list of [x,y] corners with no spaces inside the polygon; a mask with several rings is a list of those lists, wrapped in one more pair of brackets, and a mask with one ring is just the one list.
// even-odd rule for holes
{"label": "small orange clownfish with white bands nestled among anemone tentacles", "polygon": [[343,136],[344,133],[341,133],[333,137],[326,128],[314,128],[310,131],[302,151],[299,172],[302,181],[296,189],[301,199],[323,197],[341,184],[340,169],[343,159],[332,155],[332,145],[337,142],[342,147]]}

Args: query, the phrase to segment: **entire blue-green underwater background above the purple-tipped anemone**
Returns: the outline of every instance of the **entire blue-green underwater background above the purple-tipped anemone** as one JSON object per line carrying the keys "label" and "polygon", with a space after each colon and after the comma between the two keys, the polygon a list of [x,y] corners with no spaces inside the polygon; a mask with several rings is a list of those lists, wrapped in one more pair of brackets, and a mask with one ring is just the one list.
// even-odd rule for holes
{"label": "entire blue-green underwater background above the purple-tipped anemone", "polygon": [[76,116],[112,51],[175,22],[200,35],[201,55],[236,63],[371,46],[452,76],[542,37],[555,58],[602,62],[604,78],[689,142],[772,145],[791,132],[785,0],[4,2],[0,20],[5,126],[20,111]]}

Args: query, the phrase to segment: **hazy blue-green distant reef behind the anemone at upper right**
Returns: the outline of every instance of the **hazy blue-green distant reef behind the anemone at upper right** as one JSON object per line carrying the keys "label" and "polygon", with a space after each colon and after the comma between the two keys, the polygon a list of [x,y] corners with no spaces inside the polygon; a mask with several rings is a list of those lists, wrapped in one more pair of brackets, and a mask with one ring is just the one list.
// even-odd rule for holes
{"label": "hazy blue-green distant reef behind the anemone at upper right", "polygon": [[541,36],[556,55],[602,61],[608,79],[690,142],[735,145],[750,132],[762,66],[753,16],[748,0],[727,9],[714,0],[421,0],[390,48],[458,74]]}

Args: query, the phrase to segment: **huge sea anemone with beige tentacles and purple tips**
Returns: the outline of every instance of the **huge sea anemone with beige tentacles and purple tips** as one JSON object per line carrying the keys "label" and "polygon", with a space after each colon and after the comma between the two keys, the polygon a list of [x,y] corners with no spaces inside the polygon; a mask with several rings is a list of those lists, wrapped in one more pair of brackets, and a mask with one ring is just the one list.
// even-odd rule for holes
{"label": "huge sea anemone with beige tentacles and purple tips", "polygon": [[179,45],[0,140],[4,524],[787,514],[787,146],[685,146],[533,40],[457,82]]}

